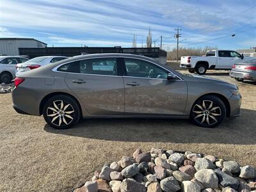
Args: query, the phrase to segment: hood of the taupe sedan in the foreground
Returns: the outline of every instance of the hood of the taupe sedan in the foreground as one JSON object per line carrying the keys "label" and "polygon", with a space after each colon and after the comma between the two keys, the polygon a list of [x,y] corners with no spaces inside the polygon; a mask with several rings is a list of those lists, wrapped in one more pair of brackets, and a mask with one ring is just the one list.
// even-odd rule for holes
{"label": "hood of the taupe sedan in the foreground", "polygon": [[222,81],[220,79],[215,79],[212,77],[192,75],[192,74],[186,74],[186,75],[184,75],[184,77],[185,77],[184,79],[186,79],[186,81],[198,81],[198,82],[202,82],[202,83],[221,84],[221,85],[228,86],[228,88],[230,88],[230,89],[237,89],[237,86],[234,84],[227,83],[226,81]]}

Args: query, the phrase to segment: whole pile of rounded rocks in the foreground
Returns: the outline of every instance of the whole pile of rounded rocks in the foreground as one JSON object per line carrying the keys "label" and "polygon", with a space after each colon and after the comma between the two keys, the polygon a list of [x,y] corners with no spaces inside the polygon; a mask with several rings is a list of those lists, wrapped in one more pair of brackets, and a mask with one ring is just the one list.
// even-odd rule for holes
{"label": "whole pile of rounded rocks in the foreground", "polygon": [[256,192],[256,168],[211,155],[152,148],[104,164],[74,192]]}

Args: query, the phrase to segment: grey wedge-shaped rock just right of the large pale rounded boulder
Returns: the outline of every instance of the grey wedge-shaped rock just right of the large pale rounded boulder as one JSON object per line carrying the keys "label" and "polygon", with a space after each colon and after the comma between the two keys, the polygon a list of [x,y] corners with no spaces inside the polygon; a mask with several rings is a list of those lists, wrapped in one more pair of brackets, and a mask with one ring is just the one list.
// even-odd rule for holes
{"label": "grey wedge-shaped rock just right of the large pale rounded boulder", "polygon": [[233,189],[237,189],[239,186],[239,181],[235,179],[234,177],[231,177],[230,175],[221,172],[221,170],[214,170],[216,173],[218,180],[224,188],[230,187]]}

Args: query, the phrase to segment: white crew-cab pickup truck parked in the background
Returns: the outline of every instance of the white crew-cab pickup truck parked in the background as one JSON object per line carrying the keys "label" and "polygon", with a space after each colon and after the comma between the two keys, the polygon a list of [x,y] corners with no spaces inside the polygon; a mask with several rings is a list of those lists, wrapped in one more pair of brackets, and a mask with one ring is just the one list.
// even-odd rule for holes
{"label": "white crew-cab pickup truck parked in the background", "polygon": [[212,50],[205,56],[183,56],[180,58],[180,67],[188,68],[189,72],[204,75],[209,69],[231,70],[234,63],[241,63],[251,59],[236,51]]}

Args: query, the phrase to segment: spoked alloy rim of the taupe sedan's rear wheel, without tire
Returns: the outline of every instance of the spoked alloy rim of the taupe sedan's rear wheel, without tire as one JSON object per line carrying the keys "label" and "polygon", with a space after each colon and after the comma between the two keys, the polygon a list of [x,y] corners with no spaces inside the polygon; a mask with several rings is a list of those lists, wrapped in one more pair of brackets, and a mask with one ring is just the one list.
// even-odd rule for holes
{"label": "spoked alloy rim of the taupe sedan's rear wheel, without tire", "polygon": [[47,108],[47,116],[51,118],[51,123],[56,126],[69,125],[74,120],[73,106],[63,100],[55,100]]}

